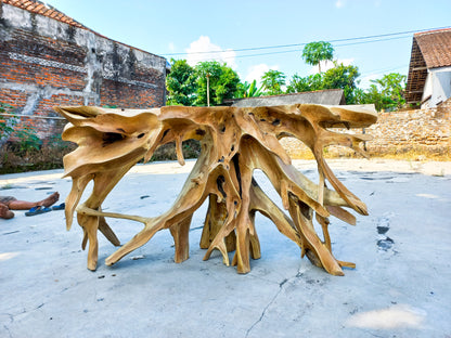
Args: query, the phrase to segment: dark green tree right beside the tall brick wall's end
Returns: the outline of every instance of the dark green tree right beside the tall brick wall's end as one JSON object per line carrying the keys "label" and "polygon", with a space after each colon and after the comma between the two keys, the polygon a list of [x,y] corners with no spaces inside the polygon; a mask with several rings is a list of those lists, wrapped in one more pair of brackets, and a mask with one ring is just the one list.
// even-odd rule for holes
{"label": "dark green tree right beside the tall brick wall's end", "polygon": [[166,77],[167,105],[191,106],[195,101],[196,77],[186,60],[171,58],[171,72]]}

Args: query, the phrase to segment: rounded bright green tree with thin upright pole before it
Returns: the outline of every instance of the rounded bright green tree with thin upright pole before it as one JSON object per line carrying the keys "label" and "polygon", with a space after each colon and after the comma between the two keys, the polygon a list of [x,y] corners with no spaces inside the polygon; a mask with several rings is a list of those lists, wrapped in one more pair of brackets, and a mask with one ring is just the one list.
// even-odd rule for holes
{"label": "rounded bright green tree with thin upright pole before it", "polygon": [[207,76],[210,104],[220,105],[226,99],[235,96],[240,77],[226,63],[205,61],[198,63],[194,68],[197,76],[196,105],[207,105]]}

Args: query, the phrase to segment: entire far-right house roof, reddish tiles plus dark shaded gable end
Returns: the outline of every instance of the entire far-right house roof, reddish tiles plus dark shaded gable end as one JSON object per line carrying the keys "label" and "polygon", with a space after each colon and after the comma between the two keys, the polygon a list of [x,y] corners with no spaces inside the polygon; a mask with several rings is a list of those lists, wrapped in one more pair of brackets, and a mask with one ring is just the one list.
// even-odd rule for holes
{"label": "entire far-right house roof, reddish tiles plus dark shaded gable end", "polygon": [[451,66],[451,28],[416,32],[412,40],[405,101],[422,101],[427,70]]}

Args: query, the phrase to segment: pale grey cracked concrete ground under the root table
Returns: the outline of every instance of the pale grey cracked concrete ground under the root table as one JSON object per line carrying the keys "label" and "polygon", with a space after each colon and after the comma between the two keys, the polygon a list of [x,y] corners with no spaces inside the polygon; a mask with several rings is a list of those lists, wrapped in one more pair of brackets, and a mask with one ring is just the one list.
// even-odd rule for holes
{"label": "pale grey cracked concrete ground under the root table", "polygon": [[[266,218],[256,220],[262,257],[239,275],[198,248],[206,207],[194,214],[190,259],[172,261],[159,232],[114,266],[99,236],[99,268],[86,269],[81,229],[64,212],[0,220],[0,337],[451,337],[451,162],[331,160],[369,206],[357,226],[331,219],[337,259],[357,263],[344,277],[300,259],[299,248]],[[156,216],[188,171],[176,162],[137,166],[104,210]],[[312,161],[295,161],[315,178]],[[0,176],[0,194],[41,199],[69,179],[61,170]],[[279,204],[265,174],[257,181]],[[89,191],[89,190],[88,190]],[[86,198],[86,197],[83,197]],[[125,243],[140,224],[109,220]]]}

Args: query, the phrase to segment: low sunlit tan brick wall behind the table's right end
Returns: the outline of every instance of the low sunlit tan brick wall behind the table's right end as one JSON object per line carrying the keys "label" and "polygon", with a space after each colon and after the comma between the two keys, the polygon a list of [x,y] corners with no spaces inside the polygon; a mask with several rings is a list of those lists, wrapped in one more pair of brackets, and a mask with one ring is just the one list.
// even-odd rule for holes
{"label": "low sunlit tan brick wall behind the table's right end", "polygon": [[[362,133],[362,129],[338,132]],[[409,151],[426,155],[449,155],[451,152],[451,99],[437,108],[378,113],[377,122],[365,129],[373,136],[366,142],[372,156],[400,154]],[[309,152],[300,141],[282,139],[283,146],[292,156]],[[335,155],[350,154],[344,147],[330,147]]]}

